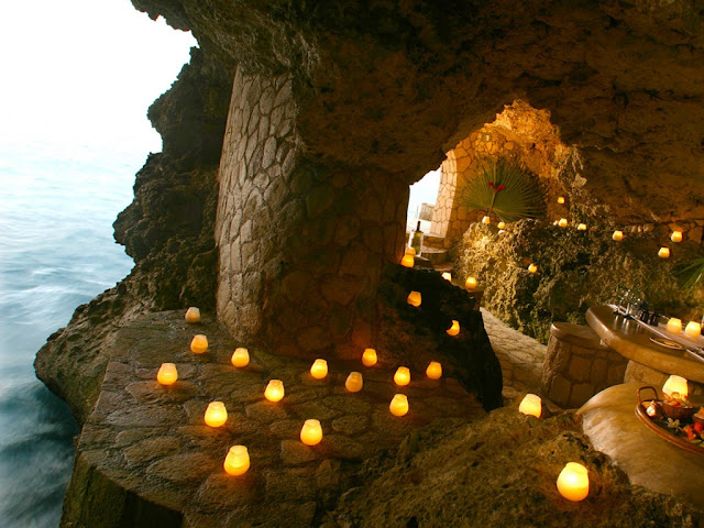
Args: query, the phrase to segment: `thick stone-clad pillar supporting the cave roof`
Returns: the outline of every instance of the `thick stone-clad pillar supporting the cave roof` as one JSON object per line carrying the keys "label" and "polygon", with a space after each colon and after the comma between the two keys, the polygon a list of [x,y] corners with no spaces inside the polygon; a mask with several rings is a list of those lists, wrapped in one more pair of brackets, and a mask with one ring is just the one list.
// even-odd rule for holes
{"label": "thick stone-clad pillar supporting the cave roof", "polygon": [[408,186],[304,153],[287,76],[238,69],[219,173],[219,319],[284,355],[372,345],[384,262],[398,262]]}

